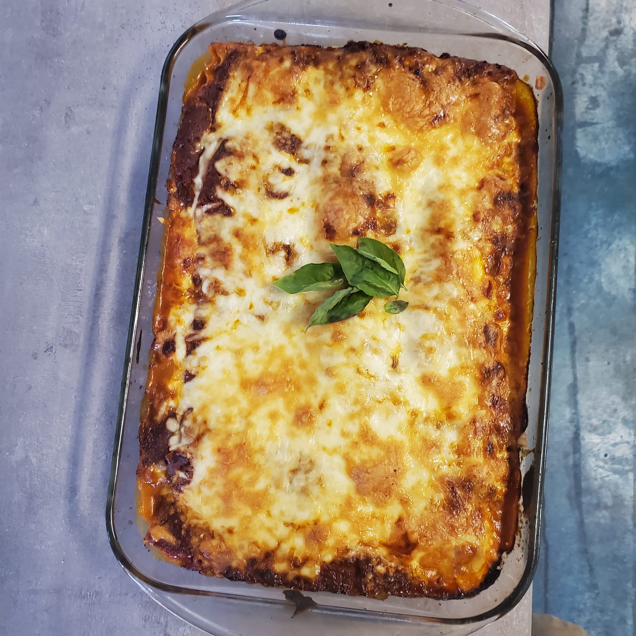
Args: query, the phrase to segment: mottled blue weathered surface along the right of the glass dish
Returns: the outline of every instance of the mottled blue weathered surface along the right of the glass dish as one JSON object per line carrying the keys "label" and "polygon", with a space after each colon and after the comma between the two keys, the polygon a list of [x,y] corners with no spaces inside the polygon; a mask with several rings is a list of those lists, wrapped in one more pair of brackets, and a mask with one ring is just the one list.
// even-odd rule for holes
{"label": "mottled blue weathered surface along the right of the glass dish", "polygon": [[556,0],[563,199],[534,611],[635,633],[636,3]]}

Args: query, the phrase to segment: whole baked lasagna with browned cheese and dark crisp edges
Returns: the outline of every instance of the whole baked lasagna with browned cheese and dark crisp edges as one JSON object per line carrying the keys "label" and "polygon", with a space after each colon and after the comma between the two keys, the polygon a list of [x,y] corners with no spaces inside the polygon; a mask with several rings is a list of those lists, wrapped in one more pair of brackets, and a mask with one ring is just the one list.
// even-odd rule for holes
{"label": "whole baked lasagna with browned cheese and dark crisp edges", "polygon": [[[139,432],[146,545],[235,581],[458,598],[514,543],[534,95],[419,48],[214,43],[183,100]],[[406,310],[273,282],[380,240]]]}

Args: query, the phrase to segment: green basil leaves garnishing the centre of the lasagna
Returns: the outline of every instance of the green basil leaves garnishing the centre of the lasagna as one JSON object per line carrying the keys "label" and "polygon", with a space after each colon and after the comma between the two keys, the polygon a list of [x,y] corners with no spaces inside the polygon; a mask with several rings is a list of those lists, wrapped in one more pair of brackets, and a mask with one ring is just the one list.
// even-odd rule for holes
{"label": "green basil leaves garnishing the centre of the lasagna", "polygon": [[335,289],[346,282],[349,287],[329,296],[309,319],[307,329],[315,324],[339,322],[359,314],[371,298],[389,298],[384,310],[387,314],[403,312],[408,303],[397,300],[404,287],[406,269],[396,251],[375,239],[360,239],[357,249],[349,245],[331,244],[338,263],[310,263],[284,276],[274,285],[289,294],[305,291]]}

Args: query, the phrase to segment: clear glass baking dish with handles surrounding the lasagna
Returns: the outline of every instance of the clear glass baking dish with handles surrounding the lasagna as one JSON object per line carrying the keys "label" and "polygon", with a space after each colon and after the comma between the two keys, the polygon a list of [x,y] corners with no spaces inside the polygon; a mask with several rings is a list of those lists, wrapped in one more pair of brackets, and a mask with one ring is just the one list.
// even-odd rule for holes
{"label": "clear glass baking dish with handles surrounding the lasagna", "polygon": [[253,614],[258,618],[259,612],[265,612],[263,616],[267,612],[277,615],[282,610],[289,617],[291,613],[283,590],[204,577],[155,558],[142,543],[135,503],[139,411],[153,340],[153,301],[163,237],[163,226],[157,219],[165,211],[165,182],[184,80],[193,62],[212,41],[270,43],[275,41],[277,29],[284,31],[277,35],[284,35],[289,45],[342,46],[350,39],[408,43],[436,55],[448,52],[501,63],[540,87],[535,90],[539,113],[539,235],[527,392],[528,443],[521,457],[523,497],[515,548],[504,556],[494,583],[473,597],[446,601],[399,597],[376,600],[311,593],[317,605],[303,614],[302,622],[294,621],[273,632],[293,629],[294,633],[313,633],[321,631],[325,621],[331,625],[337,619],[334,625],[339,627],[331,625],[330,633],[470,633],[515,606],[532,581],[538,558],[555,306],[562,97],[555,70],[541,50],[508,25],[457,0],[365,0],[363,11],[360,4],[338,0],[249,0],[205,18],[173,46],[163,66],[160,85],[121,385],[106,511],[111,546],[128,574],[153,597],[211,633],[239,632],[215,630],[213,623],[201,618],[202,612],[191,609],[188,598],[198,597],[199,605],[200,597],[225,599],[236,605],[237,615],[241,616]]}

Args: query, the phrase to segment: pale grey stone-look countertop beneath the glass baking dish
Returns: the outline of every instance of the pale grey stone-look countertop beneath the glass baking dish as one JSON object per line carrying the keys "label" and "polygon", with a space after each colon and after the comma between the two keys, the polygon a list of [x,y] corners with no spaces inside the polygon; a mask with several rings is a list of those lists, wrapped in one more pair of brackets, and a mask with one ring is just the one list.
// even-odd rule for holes
{"label": "pale grey stone-look countertop beneath the glass baking dish", "polygon": [[[0,3],[0,634],[201,633],[121,569],[104,504],[160,71],[223,4]],[[548,48],[549,0],[481,5]],[[479,633],[529,635],[530,595]]]}

